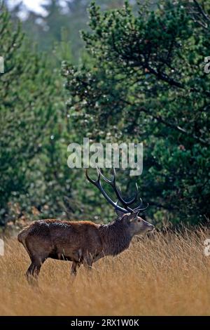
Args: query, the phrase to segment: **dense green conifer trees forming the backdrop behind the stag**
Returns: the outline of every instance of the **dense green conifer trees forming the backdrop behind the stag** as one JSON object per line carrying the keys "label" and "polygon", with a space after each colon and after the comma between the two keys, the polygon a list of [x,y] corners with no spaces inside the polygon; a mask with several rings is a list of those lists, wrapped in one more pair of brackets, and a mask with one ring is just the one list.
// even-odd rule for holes
{"label": "dense green conifer trees forming the backdrop behind the stag", "polygon": [[118,181],[130,196],[137,180],[154,223],[207,223],[209,1],[90,2],[50,0],[22,24],[22,5],[1,6],[1,226],[113,218],[84,170],[66,164],[83,137],[144,143],[142,175],[118,170]]}

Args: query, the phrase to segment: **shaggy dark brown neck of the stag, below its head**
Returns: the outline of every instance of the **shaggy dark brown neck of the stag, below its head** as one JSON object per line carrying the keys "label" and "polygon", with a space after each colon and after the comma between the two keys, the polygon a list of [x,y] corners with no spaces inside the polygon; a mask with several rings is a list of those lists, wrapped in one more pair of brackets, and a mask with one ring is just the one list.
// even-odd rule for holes
{"label": "shaggy dark brown neck of the stag, below its head", "polygon": [[127,249],[132,240],[128,225],[120,220],[108,225],[99,225],[99,232],[105,256],[116,256],[116,254]]}

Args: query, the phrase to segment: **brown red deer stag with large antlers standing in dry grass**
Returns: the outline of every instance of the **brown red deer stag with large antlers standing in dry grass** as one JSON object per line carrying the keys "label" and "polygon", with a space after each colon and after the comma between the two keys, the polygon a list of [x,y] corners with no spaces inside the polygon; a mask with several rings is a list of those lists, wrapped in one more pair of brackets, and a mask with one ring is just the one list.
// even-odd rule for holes
{"label": "brown red deer stag with large antlers standing in dry grass", "polygon": [[[27,279],[37,278],[41,265],[47,258],[70,260],[73,262],[71,275],[76,275],[78,267],[83,264],[91,268],[92,263],[104,256],[116,256],[127,249],[134,235],[154,230],[151,223],[140,216],[142,201],[134,209],[131,205],[137,201],[138,186],[134,198],[126,202],[116,187],[116,172],[108,180],[97,169],[97,180],[92,180],[86,171],[87,180],[102,192],[105,199],[116,209],[118,218],[108,225],[98,225],[90,221],[61,221],[54,219],[37,220],[20,232],[18,241],[23,244],[31,265],[27,270]],[[100,178],[109,183],[118,198],[117,202],[104,191]],[[120,202],[123,207],[118,205]]]}

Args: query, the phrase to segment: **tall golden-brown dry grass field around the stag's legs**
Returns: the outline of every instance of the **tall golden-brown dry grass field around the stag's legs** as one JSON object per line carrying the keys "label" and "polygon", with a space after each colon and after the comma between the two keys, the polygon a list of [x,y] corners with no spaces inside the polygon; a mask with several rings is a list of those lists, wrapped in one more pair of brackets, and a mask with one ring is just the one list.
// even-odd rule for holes
{"label": "tall golden-brown dry grass field around the stag's legs", "polygon": [[27,284],[29,257],[7,239],[0,257],[0,315],[210,315],[210,256],[200,228],[136,238],[117,257],[69,277],[70,263],[46,260],[39,286]]}

